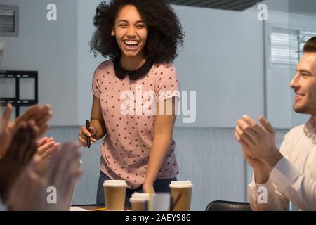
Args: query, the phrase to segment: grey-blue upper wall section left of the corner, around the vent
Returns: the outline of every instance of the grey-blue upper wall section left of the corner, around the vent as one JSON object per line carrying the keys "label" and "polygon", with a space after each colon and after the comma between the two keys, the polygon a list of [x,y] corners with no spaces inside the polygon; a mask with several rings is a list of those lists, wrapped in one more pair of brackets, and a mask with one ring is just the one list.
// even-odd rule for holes
{"label": "grey-blue upper wall section left of the corner, around the vent", "polygon": [[51,103],[53,125],[77,121],[77,1],[55,0],[58,20],[46,20],[49,0],[1,0],[20,6],[17,38],[0,37],[6,43],[4,70],[39,71],[39,103]]}

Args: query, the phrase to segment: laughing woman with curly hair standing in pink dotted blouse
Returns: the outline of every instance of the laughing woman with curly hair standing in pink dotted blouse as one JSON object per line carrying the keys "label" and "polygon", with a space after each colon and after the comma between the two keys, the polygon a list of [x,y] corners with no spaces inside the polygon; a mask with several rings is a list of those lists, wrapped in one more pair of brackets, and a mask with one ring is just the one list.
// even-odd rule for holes
{"label": "laughing woman with curly hair standing in pink dotted blouse", "polygon": [[[106,135],[97,203],[105,203],[103,181],[117,179],[128,184],[129,207],[133,192],[170,192],[169,184],[178,174],[172,134],[173,109],[180,94],[172,63],[184,35],[173,9],[161,0],[103,2],[96,10],[94,25],[91,50],[111,59],[101,63],[93,75],[91,127],[81,127],[78,139],[86,146],[87,137],[93,143]],[[133,95],[126,100],[128,104],[122,98],[126,91]],[[146,93],[154,97],[149,99]],[[133,107],[143,108],[147,101],[159,115]],[[126,105],[131,107],[124,112]],[[165,106],[172,108],[168,115]]]}

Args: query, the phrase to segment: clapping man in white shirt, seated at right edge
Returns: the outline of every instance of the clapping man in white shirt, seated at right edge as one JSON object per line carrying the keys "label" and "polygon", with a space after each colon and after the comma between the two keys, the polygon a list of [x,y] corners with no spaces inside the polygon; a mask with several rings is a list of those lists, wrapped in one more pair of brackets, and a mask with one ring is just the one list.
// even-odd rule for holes
{"label": "clapping man in white shirt, seated at right edge", "polygon": [[288,210],[289,201],[300,210],[316,210],[316,37],[308,40],[290,86],[294,111],[311,115],[275,146],[275,129],[264,117],[261,126],[244,115],[235,129],[244,158],[254,169],[248,186],[253,210]]}

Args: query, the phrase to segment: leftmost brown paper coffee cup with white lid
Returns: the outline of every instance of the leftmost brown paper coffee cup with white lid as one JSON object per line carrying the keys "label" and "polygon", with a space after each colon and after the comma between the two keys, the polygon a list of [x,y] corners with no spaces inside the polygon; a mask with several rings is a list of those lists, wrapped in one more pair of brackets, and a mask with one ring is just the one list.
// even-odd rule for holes
{"label": "leftmost brown paper coffee cup with white lid", "polygon": [[105,180],[103,182],[105,207],[107,211],[124,211],[126,181]]}

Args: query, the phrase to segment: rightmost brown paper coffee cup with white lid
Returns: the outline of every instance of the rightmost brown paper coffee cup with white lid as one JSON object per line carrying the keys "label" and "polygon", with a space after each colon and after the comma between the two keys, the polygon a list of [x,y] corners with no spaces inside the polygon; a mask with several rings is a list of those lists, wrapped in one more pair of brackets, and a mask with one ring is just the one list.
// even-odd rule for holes
{"label": "rightmost brown paper coffee cup with white lid", "polygon": [[193,184],[191,181],[171,181],[171,210],[190,211]]}

